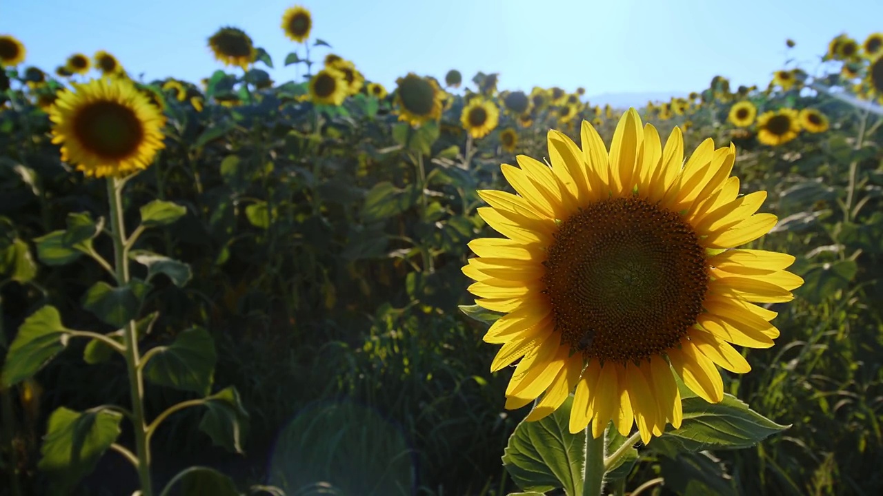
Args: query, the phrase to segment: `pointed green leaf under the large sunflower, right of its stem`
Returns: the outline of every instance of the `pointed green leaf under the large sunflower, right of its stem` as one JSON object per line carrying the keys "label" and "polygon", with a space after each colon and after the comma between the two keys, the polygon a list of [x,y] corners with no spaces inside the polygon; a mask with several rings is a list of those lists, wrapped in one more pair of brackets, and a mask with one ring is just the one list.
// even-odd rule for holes
{"label": "pointed green leaf under the large sunflower, right of its stem", "polygon": [[683,424],[664,432],[647,447],[674,457],[678,452],[752,447],[788,429],[748,408],[736,396],[725,394],[719,403],[697,396],[683,398]]}

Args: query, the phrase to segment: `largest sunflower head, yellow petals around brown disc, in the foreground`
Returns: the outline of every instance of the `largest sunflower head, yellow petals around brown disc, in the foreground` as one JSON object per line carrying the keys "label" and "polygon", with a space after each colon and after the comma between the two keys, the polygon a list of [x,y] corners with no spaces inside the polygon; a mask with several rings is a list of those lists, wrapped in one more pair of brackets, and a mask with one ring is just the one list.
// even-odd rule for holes
{"label": "largest sunflower head, yellow petals around brown disc, in the foreground", "polygon": [[[675,374],[707,402],[723,397],[721,374],[751,367],[731,346],[767,348],[775,312],[802,280],[794,257],[735,249],[766,234],[773,214],[754,214],[766,192],[739,196],[729,177],[735,147],[706,139],[683,164],[680,130],[663,148],[635,109],[619,121],[610,152],[582,124],[580,149],[549,132],[551,167],[524,155],[502,165],[518,193],[481,191],[479,215],[503,238],[469,246],[464,274],[476,303],[503,312],[484,336],[502,344],[492,371],[518,362],[506,408],[539,400],[545,417],[575,392],[570,432],[612,419],[628,435],[659,436],[683,419]],[[520,360],[520,361],[519,361]]]}

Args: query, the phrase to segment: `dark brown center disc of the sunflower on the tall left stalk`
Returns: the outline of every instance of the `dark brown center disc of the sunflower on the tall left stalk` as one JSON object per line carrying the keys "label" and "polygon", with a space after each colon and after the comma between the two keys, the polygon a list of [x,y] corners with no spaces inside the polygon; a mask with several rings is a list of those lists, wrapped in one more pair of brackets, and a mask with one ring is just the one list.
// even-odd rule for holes
{"label": "dark brown center disc of the sunflower on the tall left stalk", "polygon": [[128,157],[144,139],[138,116],[132,109],[112,101],[92,103],[81,109],[73,127],[83,147],[106,160]]}

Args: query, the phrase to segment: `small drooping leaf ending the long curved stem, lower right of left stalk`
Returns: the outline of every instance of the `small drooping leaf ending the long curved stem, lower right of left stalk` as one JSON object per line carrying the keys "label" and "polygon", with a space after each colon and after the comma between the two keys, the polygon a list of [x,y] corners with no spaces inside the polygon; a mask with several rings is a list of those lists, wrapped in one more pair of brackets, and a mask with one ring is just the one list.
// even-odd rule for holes
{"label": "small drooping leaf ending the long curved stem, lower right of left stalk", "polygon": [[208,409],[200,421],[200,431],[212,439],[215,446],[243,454],[243,443],[248,435],[248,412],[239,400],[236,387],[225,387],[205,402]]}

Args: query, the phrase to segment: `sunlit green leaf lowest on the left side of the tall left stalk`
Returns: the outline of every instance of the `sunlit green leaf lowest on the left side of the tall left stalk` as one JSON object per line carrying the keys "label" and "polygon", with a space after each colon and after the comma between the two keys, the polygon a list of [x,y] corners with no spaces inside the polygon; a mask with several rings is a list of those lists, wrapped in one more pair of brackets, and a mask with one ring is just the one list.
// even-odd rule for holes
{"label": "sunlit green leaf lowest on the left side of the tall left stalk", "polygon": [[123,415],[116,411],[78,412],[61,407],[49,417],[37,467],[49,474],[60,493],[68,493],[87,476],[119,436]]}

